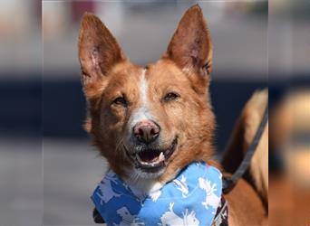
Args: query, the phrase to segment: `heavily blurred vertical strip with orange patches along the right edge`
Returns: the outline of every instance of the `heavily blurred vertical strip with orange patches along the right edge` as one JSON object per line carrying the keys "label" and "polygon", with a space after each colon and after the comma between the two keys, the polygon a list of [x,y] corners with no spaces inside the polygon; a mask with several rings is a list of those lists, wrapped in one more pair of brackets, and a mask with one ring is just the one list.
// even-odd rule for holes
{"label": "heavily blurred vertical strip with orange patches along the right edge", "polygon": [[309,9],[269,2],[269,225],[310,224]]}

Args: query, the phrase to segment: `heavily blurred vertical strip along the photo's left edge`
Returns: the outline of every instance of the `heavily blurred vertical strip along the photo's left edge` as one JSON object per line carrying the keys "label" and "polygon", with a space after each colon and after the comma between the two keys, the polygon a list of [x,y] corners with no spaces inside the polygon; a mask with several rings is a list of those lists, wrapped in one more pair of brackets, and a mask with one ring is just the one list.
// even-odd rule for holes
{"label": "heavily blurred vertical strip along the photo's left edge", "polygon": [[0,225],[42,225],[40,0],[0,3]]}

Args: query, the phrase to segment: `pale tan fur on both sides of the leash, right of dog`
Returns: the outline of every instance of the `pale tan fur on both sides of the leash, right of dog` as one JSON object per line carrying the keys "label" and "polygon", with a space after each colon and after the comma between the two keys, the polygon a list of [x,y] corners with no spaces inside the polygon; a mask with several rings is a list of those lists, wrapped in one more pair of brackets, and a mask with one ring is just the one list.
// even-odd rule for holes
{"label": "pale tan fur on both sides of the leash, right of dog", "polygon": [[[247,101],[240,118],[234,129],[233,136],[228,144],[227,153],[224,157],[224,168],[233,173],[237,170],[247,149],[252,143],[253,137],[266,108],[268,100],[267,90],[257,91]],[[262,196],[266,206],[268,203],[268,125],[263,132],[257,146],[255,155],[249,166],[247,179]]]}

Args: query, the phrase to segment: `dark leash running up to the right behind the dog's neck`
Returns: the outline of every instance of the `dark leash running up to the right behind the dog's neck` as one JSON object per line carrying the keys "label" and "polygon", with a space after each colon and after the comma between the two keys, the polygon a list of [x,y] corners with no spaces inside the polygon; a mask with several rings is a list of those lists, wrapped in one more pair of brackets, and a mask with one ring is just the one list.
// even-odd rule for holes
{"label": "dark leash running up to the right behind the dog's neck", "polygon": [[259,127],[257,128],[257,133],[254,136],[251,145],[247,149],[247,154],[245,155],[241,164],[237,167],[237,170],[230,177],[223,176],[223,193],[229,193],[237,184],[237,181],[247,172],[247,168],[251,163],[251,159],[257,150],[257,146],[260,138],[263,135],[264,129],[268,122],[268,104],[266,104],[265,112],[262,120],[260,121]]}

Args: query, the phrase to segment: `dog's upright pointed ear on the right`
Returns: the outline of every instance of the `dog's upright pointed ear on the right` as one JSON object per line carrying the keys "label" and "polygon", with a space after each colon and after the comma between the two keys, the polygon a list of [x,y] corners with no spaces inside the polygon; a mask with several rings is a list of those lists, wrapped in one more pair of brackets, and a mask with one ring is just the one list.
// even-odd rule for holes
{"label": "dog's upright pointed ear on the right", "polygon": [[212,44],[199,5],[190,7],[181,18],[168,46],[167,56],[183,71],[195,71],[203,77],[210,73]]}

